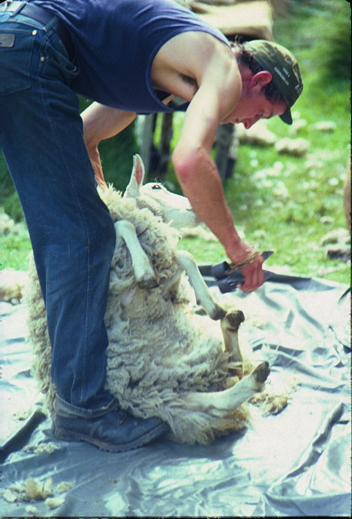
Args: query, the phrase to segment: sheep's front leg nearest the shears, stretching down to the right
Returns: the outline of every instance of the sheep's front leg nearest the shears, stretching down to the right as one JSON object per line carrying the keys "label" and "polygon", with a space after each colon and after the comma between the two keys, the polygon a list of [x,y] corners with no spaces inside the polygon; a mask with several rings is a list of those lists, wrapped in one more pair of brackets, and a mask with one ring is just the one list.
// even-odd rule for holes
{"label": "sheep's front leg nearest the shears, stretching down to the right", "polygon": [[226,315],[226,311],[221,308],[209,292],[209,289],[199,271],[193,256],[186,251],[179,251],[177,254],[179,266],[185,270],[189,282],[194,290],[196,301],[202,305],[206,313],[215,321],[222,319]]}

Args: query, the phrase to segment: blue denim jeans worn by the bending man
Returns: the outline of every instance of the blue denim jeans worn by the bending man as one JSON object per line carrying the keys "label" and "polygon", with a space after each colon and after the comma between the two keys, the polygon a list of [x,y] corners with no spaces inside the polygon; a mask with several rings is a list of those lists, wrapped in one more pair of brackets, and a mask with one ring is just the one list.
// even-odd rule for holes
{"label": "blue denim jeans worn by the bending man", "polygon": [[52,379],[66,408],[91,416],[112,402],[104,313],[115,230],[96,191],[70,88],[78,71],[56,21],[0,12],[0,149],[31,237]]}

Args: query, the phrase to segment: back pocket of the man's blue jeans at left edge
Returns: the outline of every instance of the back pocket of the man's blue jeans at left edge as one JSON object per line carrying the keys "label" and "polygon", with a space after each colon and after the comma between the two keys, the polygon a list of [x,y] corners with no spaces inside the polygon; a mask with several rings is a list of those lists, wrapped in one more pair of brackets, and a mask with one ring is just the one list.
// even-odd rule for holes
{"label": "back pocket of the man's blue jeans at left edge", "polygon": [[7,29],[0,31],[0,95],[21,92],[31,86],[35,34]]}

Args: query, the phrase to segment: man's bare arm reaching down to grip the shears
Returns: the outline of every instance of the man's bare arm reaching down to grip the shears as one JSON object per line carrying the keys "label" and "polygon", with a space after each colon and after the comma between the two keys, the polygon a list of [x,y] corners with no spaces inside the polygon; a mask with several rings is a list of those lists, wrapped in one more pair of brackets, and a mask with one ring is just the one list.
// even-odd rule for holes
{"label": "man's bare arm reaching down to grip the shears", "polygon": [[[223,244],[230,260],[242,263],[253,249],[238,236],[210,156],[219,122],[233,110],[241,95],[241,75],[234,60],[220,60],[210,62],[197,82],[199,89],[187,110],[173,164],[182,192],[196,214]],[[263,283],[261,265],[262,258],[257,257],[242,269],[242,290],[249,292]]]}

